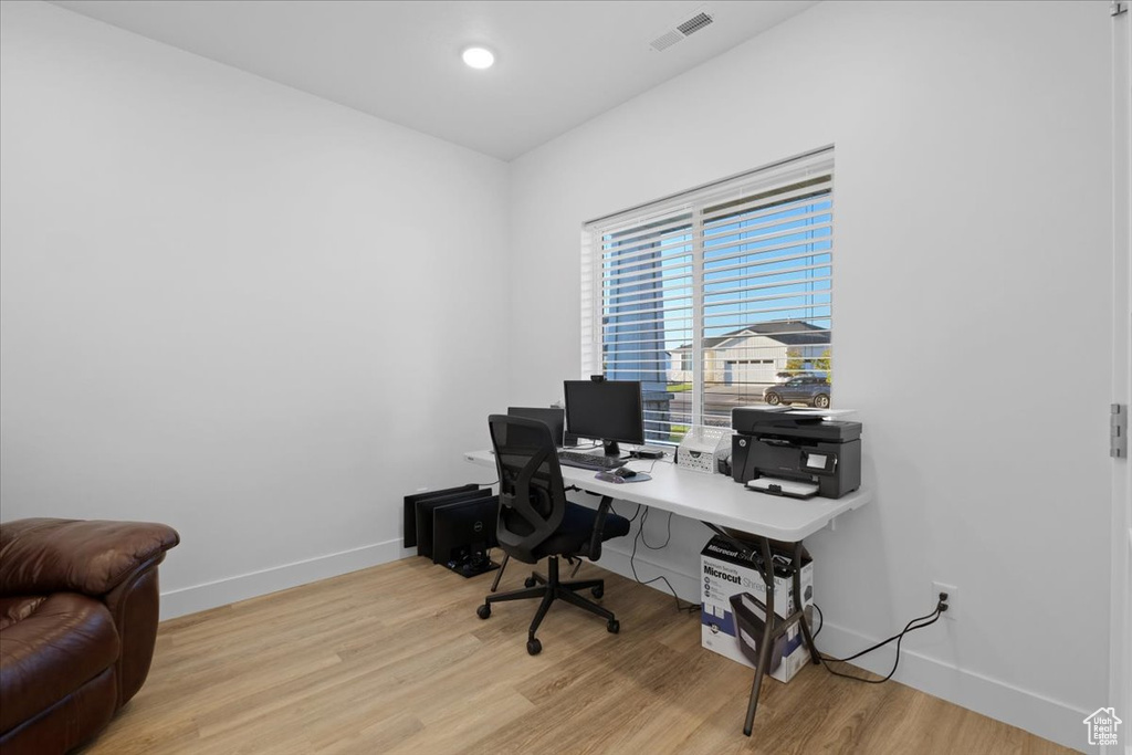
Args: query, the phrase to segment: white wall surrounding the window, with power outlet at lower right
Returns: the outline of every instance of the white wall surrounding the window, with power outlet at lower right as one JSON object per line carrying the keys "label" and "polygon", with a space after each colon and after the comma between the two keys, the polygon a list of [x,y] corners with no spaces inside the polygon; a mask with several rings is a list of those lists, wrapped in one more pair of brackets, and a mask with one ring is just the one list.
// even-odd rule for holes
{"label": "white wall surrounding the window, with power outlet at lower right", "polygon": [[[580,370],[583,221],[835,145],[834,401],[876,498],[808,541],[818,644],[864,647],[958,585],[960,620],[911,635],[898,678],[1073,747],[1108,679],[1109,25],[1096,1],[822,3],[511,187],[509,398],[544,402]],[[648,558],[692,597],[706,538],[677,523]]]}

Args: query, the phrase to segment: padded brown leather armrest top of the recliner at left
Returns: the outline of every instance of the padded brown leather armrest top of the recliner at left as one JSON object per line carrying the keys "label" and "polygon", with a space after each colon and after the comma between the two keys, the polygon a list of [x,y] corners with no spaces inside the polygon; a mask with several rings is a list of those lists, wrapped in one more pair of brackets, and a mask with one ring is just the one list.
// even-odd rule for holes
{"label": "padded brown leather armrest top of the recliner at left", "polygon": [[148,522],[31,518],[0,524],[0,594],[105,595],[180,542]]}

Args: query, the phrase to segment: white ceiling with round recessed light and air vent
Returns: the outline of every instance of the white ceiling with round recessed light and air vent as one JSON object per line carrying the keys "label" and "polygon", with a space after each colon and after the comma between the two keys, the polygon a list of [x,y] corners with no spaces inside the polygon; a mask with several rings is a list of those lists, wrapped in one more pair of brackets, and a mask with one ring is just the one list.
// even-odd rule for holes
{"label": "white ceiling with round recessed light and air vent", "polygon": [[[54,0],[417,131],[513,160],[814,5]],[[696,12],[713,22],[658,52]],[[470,44],[496,53],[478,71]]]}

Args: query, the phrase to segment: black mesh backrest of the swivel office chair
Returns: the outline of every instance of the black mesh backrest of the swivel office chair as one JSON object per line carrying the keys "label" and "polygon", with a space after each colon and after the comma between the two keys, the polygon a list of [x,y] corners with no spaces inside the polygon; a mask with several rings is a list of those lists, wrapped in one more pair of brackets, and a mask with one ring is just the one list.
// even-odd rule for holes
{"label": "black mesh backrest of the swivel office chair", "polygon": [[499,547],[528,564],[566,515],[566,490],[550,428],[507,414],[488,418],[499,471]]}

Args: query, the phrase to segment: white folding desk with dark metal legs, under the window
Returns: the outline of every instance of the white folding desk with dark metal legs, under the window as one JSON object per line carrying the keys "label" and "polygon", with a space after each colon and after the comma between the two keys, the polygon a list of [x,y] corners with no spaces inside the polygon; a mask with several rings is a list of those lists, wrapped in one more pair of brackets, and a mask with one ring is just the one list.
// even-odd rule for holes
{"label": "white folding desk with dark metal legs, under the window", "polygon": [[[464,454],[464,458],[480,466],[496,469],[495,456],[489,451],[469,452]],[[563,481],[567,487],[575,486],[601,495],[602,507],[608,507],[616,498],[703,522],[710,530],[727,538],[760,569],[766,583],[767,616],[774,616],[774,575],[771,569],[761,565],[771,564],[770,541],[790,543],[794,550],[794,594],[801,594],[798,574],[801,569],[803,539],[824,527],[839,514],[864,506],[873,497],[868,490],[856,490],[837,499],[799,500],[756,492],[722,474],[693,472],[663,460],[658,460],[655,464],[645,460],[632,460],[627,464],[637,471],[649,471],[652,479],[643,482],[606,482],[598,480],[594,477],[597,472],[592,470],[563,466]],[[743,534],[748,537],[737,539],[737,535],[741,538]],[[755,542],[755,547],[745,542],[749,540]],[[771,621],[766,621],[764,626],[755,678],[747,701],[747,718],[743,727],[743,732],[748,737],[754,726],[758,692],[770,662],[770,647],[774,636],[798,623],[813,662],[820,662],[809,624],[801,611],[800,601],[798,602],[798,610],[782,624],[773,627]]]}

